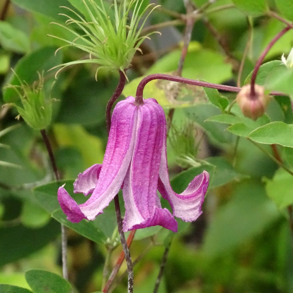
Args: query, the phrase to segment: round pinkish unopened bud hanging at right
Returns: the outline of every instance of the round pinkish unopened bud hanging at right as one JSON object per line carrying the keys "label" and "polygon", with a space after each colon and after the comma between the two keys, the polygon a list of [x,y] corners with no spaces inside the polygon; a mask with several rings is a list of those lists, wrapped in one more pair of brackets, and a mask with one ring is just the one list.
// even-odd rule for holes
{"label": "round pinkish unopened bud hanging at right", "polygon": [[245,117],[256,120],[265,113],[270,97],[265,94],[265,89],[258,85],[254,85],[255,94],[251,95],[251,86],[247,84],[241,88],[237,94],[236,101]]}

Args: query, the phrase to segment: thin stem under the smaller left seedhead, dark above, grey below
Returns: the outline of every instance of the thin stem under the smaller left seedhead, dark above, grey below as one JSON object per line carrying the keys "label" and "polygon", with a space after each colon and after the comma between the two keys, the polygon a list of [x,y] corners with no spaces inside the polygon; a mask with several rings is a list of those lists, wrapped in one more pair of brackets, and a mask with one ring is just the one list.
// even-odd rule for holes
{"label": "thin stem under the smaller left seedhead, dark above, grey below", "polygon": [[[47,152],[49,154],[49,158],[50,158],[50,162],[51,162],[51,166],[52,169],[54,171],[55,174],[55,179],[57,181],[59,181],[60,177],[59,177],[59,173],[58,173],[58,169],[56,166],[56,161],[55,161],[55,157],[52,151],[52,147],[50,144],[50,140],[49,137],[47,135],[47,132],[45,129],[40,130]],[[63,278],[65,280],[68,280],[68,270],[67,270],[67,235],[66,235],[66,229],[65,226],[63,224],[61,224],[61,251],[62,251],[62,272],[63,272]]]}

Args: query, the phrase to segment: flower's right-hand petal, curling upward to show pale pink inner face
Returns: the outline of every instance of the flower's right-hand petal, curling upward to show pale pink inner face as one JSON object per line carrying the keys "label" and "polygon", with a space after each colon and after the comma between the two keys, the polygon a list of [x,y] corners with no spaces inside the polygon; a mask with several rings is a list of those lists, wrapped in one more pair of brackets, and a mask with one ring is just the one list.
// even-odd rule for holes
{"label": "flower's right-hand petal, curling upward to show pale pink inner face", "polygon": [[202,214],[201,207],[208,185],[209,173],[203,171],[189,183],[183,193],[178,194],[172,190],[168,175],[165,127],[163,152],[159,168],[158,190],[163,198],[169,201],[173,210],[173,216],[185,222],[195,221]]}

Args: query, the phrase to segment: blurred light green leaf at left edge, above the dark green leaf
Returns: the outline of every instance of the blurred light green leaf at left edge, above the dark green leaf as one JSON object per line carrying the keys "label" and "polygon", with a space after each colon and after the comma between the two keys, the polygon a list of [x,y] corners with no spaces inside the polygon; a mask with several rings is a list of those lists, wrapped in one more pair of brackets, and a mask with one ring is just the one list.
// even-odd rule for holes
{"label": "blurred light green leaf at left edge, above the dark green leaf", "polygon": [[0,21],[0,43],[4,49],[14,52],[27,53],[30,50],[28,36],[5,21]]}

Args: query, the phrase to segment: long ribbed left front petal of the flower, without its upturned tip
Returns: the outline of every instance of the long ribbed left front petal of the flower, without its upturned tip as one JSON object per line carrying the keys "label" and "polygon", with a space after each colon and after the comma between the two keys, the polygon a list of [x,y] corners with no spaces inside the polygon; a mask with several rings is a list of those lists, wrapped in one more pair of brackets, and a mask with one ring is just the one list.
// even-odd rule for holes
{"label": "long ribbed left front petal of the flower, without its upturned tip", "polygon": [[138,107],[129,97],[114,108],[112,125],[105,151],[103,165],[96,188],[91,197],[82,205],[81,212],[89,220],[103,212],[118,193],[133,153]]}

